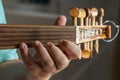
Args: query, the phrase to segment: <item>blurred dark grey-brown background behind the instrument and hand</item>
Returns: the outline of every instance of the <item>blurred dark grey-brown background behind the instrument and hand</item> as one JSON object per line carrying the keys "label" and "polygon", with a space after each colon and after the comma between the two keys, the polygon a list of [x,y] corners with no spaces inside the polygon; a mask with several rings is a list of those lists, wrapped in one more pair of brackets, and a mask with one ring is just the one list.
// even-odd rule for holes
{"label": "blurred dark grey-brown background behind the instrument and hand", "polygon": [[[3,0],[8,24],[54,24],[65,15],[71,25],[71,7],[103,7],[105,20],[120,25],[120,0]],[[112,29],[112,32],[116,30]],[[120,36],[106,43],[100,41],[100,52],[87,60],[72,61],[52,80],[120,80]]]}

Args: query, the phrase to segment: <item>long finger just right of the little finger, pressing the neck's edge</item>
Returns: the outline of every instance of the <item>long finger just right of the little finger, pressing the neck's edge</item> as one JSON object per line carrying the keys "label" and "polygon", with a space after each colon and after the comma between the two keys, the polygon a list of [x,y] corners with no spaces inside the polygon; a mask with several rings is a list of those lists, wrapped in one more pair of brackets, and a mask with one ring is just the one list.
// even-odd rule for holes
{"label": "long finger just right of the little finger, pressing the neck's edge", "polygon": [[35,50],[40,58],[41,66],[46,72],[56,71],[54,61],[49,55],[46,48],[42,45],[40,41],[35,41],[34,43]]}

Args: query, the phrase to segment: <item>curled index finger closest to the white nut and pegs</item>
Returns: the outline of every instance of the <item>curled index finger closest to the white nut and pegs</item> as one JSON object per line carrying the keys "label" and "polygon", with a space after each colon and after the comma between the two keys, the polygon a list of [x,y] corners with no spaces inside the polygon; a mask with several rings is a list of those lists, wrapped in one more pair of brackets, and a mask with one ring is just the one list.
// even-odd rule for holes
{"label": "curled index finger closest to the white nut and pegs", "polygon": [[58,46],[65,52],[69,59],[81,59],[80,47],[68,40],[61,40]]}

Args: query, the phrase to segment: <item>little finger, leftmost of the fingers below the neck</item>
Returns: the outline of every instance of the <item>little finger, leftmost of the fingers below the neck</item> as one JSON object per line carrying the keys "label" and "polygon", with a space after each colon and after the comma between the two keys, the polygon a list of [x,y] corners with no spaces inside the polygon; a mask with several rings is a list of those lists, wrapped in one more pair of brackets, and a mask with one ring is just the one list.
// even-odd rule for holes
{"label": "little finger, leftmost of the fingers below the neck", "polygon": [[32,59],[29,57],[28,47],[25,43],[20,44],[20,54],[23,58],[24,63],[27,66],[31,66],[33,64]]}

